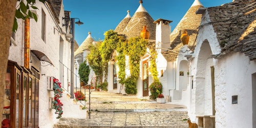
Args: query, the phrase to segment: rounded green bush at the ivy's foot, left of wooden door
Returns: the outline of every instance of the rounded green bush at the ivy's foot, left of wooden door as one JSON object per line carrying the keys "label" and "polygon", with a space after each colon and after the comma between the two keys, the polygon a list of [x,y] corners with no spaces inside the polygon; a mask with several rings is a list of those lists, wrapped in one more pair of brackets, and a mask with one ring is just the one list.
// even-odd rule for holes
{"label": "rounded green bush at the ivy's foot, left of wooden door", "polygon": [[137,94],[137,88],[136,88],[136,81],[137,77],[130,76],[126,78],[125,80],[125,93],[136,95]]}

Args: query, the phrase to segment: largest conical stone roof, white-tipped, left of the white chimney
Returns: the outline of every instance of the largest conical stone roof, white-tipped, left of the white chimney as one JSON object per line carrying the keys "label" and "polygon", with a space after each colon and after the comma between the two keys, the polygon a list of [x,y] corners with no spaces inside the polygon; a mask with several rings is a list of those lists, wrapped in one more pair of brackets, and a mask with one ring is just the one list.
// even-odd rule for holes
{"label": "largest conical stone roof, white-tipped, left of the white chimney", "polygon": [[153,22],[154,19],[147,13],[142,6],[142,1],[140,1],[139,8],[123,30],[123,34],[125,34],[127,38],[140,36],[143,26],[146,26],[147,30],[150,32],[150,39],[156,39],[156,24]]}

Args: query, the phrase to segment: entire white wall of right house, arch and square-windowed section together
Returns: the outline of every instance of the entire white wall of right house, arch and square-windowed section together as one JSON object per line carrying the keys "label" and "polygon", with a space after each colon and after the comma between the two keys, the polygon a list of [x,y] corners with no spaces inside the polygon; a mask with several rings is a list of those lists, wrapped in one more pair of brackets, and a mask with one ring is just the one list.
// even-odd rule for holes
{"label": "entire white wall of right house, arch and square-windowed section together", "polygon": [[[203,14],[202,23],[210,22]],[[208,58],[219,54],[220,46],[216,33],[210,24],[199,29],[197,46],[191,60],[191,109],[188,115],[196,120],[197,115],[209,115],[211,106],[210,66],[215,68],[215,110],[216,127],[253,127],[252,125],[252,74],[256,62],[250,61],[244,53],[236,52],[220,58]],[[238,104],[232,104],[232,96],[238,95]],[[202,105],[201,105],[202,104]],[[255,106],[254,106],[255,107]]]}

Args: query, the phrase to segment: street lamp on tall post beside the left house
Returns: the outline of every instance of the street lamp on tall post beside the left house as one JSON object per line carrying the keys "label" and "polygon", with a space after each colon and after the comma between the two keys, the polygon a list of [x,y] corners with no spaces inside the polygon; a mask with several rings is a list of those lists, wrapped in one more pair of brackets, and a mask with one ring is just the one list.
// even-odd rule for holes
{"label": "street lamp on tall post beside the left house", "polygon": [[[70,89],[70,98],[74,98],[74,43],[75,43],[75,24],[82,25],[83,23],[80,22],[79,18],[70,18],[71,19],[71,89]],[[75,22],[75,19],[78,19],[78,22]]]}

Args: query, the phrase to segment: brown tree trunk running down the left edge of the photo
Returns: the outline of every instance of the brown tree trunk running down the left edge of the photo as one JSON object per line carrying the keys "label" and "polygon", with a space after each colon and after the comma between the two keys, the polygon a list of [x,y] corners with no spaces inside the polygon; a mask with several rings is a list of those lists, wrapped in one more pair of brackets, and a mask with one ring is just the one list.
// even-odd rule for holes
{"label": "brown tree trunk running down the left edge of the photo", "polygon": [[[21,0],[18,0],[20,2]],[[36,0],[26,0],[27,2],[27,9],[31,7],[31,4],[35,4]],[[45,2],[42,0],[39,0],[40,2]],[[14,23],[14,17],[15,17],[15,12],[20,12],[19,7],[17,6],[17,9],[15,8],[17,4],[17,0],[11,0],[11,1],[0,1],[0,89],[4,89],[5,87],[5,79],[6,79],[6,69],[8,65],[8,56],[9,56],[9,48],[10,48],[10,37],[12,34],[12,28],[13,28],[13,23]],[[27,14],[27,13],[26,13]],[[33,15],[33,14],[32,14]],[[16,17],[19,18],[19,17]],[[28,17],[26,17],[28,18]],[[0,91],[0,102],[4,102],[4,90]],[[0,104],[0,112],[3,112],[3,104]],[[0,116],[0,120],[3,117]]]}

